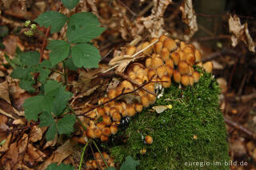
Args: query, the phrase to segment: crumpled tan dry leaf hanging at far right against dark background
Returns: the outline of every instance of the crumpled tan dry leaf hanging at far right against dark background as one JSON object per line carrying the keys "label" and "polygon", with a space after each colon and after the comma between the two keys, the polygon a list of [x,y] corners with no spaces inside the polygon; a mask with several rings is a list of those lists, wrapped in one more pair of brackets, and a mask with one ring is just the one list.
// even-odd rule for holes
{"label": "crumpled tan dry leaf hanging at far right against dark background", "polygon": [[236,14],[229,18],[229,26],[231,42],[233,46],[238,45],[239,41],[245,42],[248,45],[248,49],[255,53],[255,45],[253,39],[250,37],[247,23],[241,25],[240,18]]}

